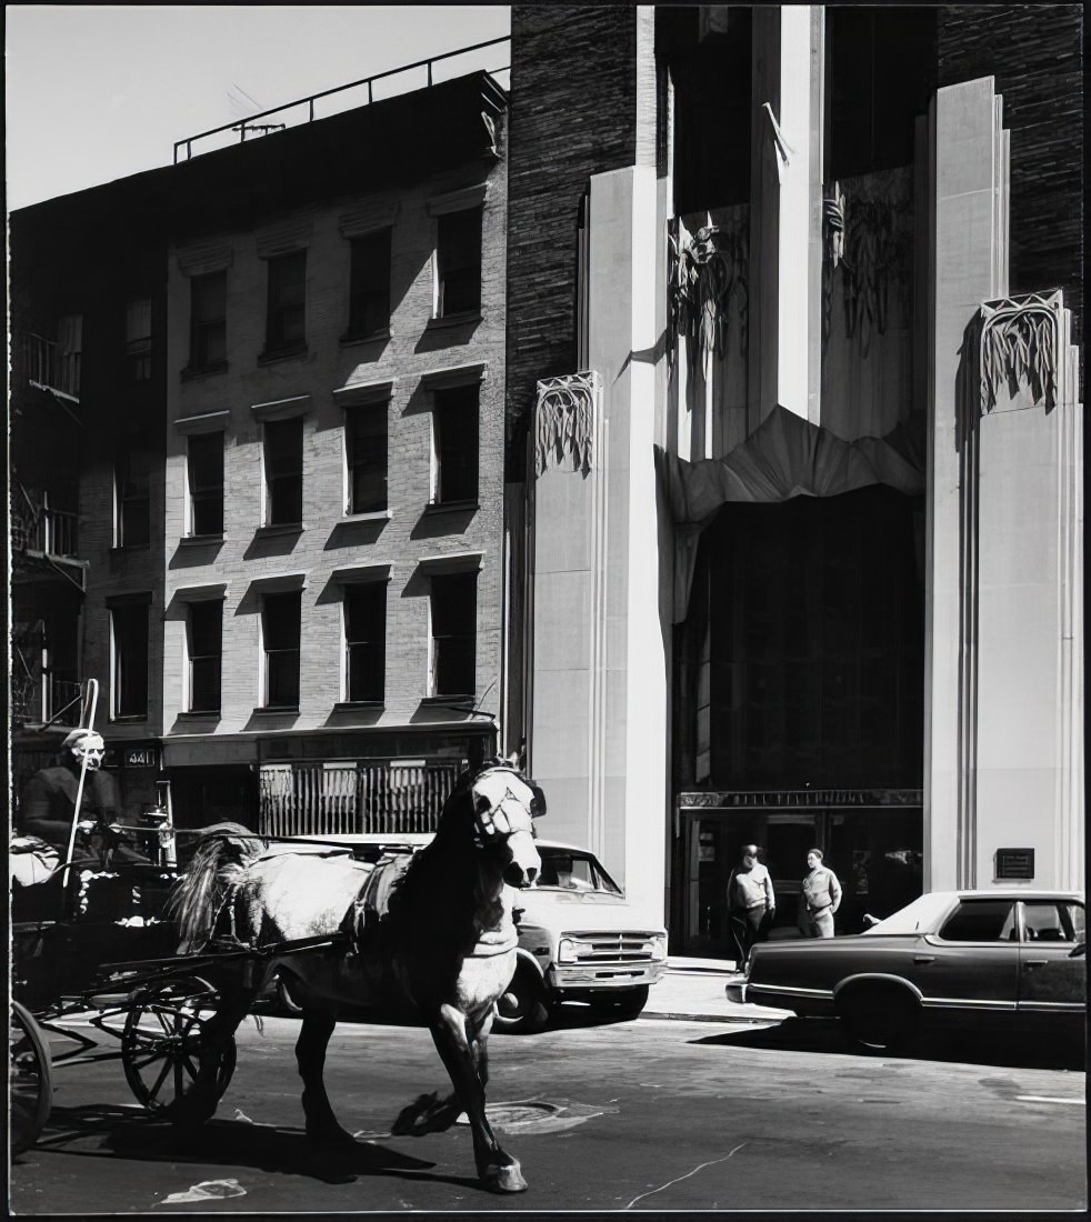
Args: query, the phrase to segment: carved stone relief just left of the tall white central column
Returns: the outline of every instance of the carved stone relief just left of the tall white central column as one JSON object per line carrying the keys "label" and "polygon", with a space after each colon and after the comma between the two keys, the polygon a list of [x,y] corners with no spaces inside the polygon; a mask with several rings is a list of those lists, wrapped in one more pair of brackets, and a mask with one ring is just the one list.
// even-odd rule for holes
{"label": "carved stone relief just left of the tall white central column", "polygon": [[737,301],[742,323],[742,354],[746,352],[746,319],[749,307],[750,240],[746,218],[740,214],[737,226],[705,225],[694,235],[677,216],[667,230],[667,360],[682,336],[689,341],[689,363],[704,362],[706,356],[724,354],[727,314]]}

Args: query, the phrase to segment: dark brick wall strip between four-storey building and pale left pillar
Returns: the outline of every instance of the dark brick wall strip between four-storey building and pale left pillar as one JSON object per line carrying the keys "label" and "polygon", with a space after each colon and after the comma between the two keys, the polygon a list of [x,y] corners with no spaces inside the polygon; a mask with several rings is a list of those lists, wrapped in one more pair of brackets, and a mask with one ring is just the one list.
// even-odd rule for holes
{"label": "dark brick wall strip between four-storey building and pale left pillar", "polygon": [[635,161],[634,7],[512,7],[507,412],[512,475],[539,378],[575,371],[579,205]]}

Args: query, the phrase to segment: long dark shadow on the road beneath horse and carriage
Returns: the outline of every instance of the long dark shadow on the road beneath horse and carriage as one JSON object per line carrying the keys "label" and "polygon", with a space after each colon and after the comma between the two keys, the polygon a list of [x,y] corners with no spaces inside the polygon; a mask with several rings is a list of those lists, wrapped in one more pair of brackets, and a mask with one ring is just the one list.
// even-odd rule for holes
{"label": "long dark shadow on the road beneath horse and carriage", "polygon": [[[87,1139],[98,1145],[88,1149]],[[480,1188],[475,1176],[435,1172],[435,1162],[414,1158],[374,1140],[316,1147],[302,1129],[246,1119],[211,1119],[199,1128],[178,1129],[117,1105],[55,1106],[37,1149],[78,1157],[116,1156],[139,1162],[222,1166],[232,1171],[250,1168],[327,1184],[392,1176]]]}

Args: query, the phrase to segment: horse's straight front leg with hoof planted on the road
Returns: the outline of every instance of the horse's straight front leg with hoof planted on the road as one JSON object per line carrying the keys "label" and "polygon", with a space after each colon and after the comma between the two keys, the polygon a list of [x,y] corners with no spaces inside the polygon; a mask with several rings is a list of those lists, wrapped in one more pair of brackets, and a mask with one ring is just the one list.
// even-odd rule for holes
{"label": "horse's straight front leg with hoof planted on the road", "polygon": [[443,1004],[430,1030],[470,1123],[478,1176],[495,1193],[525,1193],[527,1180],[518,1161],[500,1147],[485,1114],[485,1081],[489,1075],[485,1041],[491,1025],[491,1011],[478,1026],[472,1026],[461,1009]]}

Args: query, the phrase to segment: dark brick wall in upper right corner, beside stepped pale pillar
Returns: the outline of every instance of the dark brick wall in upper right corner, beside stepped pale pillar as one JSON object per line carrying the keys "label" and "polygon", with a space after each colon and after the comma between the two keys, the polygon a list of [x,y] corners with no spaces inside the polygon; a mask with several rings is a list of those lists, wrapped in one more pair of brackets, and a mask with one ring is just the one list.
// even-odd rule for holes
{"label": "dark brick wall in upper right corner, beside stepped pale pillar", "polygon": [[1081,5],[952,6],[938,13],[940,86],[992,76],[1004,99],[1012,292],[1063,288],[1074,343],[1084,334],[1082,34]]}

